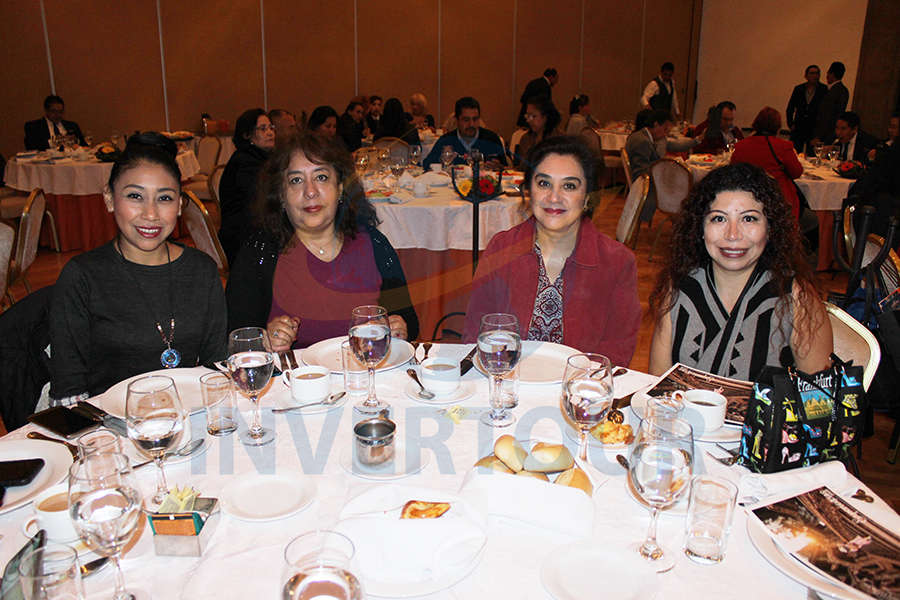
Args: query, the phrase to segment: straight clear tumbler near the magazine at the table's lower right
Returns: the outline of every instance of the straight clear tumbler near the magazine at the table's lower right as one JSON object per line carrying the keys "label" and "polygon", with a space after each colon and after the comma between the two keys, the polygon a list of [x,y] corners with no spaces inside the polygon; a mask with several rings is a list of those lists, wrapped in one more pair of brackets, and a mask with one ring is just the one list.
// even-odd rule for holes
{"label": "straight clear tumbler near the magazine at the table's lower right", "polygon": [[703,564],[725,558],[736,500],[737,486],[727,479],[694,477],[684,526],[684,553],[688,558]]}

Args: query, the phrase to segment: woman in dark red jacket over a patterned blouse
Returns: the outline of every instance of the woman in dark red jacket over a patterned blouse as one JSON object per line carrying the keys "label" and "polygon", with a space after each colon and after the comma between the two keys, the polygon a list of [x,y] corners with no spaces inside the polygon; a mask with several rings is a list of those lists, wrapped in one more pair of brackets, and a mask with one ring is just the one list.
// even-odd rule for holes
{"label": "woman in dark red jacket over a patterned blouse", "polygon": [[628,365],[641,306],[634,254],[590,219],[594,155],[573,137],[548,138],[528,155],[534,216],[491,239],[478,263],[465,339],[486,313],[516,315],[523,339],[567,344]]}

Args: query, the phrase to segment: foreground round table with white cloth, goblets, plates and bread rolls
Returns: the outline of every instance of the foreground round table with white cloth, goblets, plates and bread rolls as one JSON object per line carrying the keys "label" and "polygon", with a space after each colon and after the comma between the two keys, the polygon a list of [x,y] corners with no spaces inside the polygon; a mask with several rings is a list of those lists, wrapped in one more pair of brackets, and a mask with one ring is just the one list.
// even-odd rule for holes
{"label": "foreground round table with white cloth, goblets, plates and bread rolls", "polygon": [[[715,391],[652,396],[661,378],[521,341],[512,315],[486,315],[474,346],[410,344],[379,308],[281,355],[236,330],[219,370],[143,374],[89,399],[125,436],[49,442],[29,424],[0,438],[0,459],[44,463],[0,506],[0,559],[34,550],[39,524],[66,573],[114,565],[58,578],[73,598],[868,597],[758,518],[821,488],[900,530],[840,463],[752,473],[726,464],[736,441],[703,441],[725,426]],[[48,494],[68,494],[81,541],[38,511]],[[112,521],[92,498],[111,499]]]}

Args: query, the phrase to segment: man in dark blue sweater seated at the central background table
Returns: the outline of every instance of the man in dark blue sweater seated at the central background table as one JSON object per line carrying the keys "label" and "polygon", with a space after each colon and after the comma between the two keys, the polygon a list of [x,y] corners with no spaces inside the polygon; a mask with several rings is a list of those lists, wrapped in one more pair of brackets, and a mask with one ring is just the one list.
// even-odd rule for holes
{"label": "man in dark blue sweater seated at the central background table", "polygon": [[431,152],[422,161],[425,170],[432,164],[441,162],[444,146],[450,146],[456,152],[453,164],[464,164],[467,154],[472,150],[479,150],[488,166],[505,167],[507,162],[503,142],[496,133],[481,127],[481,105],[478,100],[471,96],[460,98],[456,101],[454,112],[457,128],[438,138]]}

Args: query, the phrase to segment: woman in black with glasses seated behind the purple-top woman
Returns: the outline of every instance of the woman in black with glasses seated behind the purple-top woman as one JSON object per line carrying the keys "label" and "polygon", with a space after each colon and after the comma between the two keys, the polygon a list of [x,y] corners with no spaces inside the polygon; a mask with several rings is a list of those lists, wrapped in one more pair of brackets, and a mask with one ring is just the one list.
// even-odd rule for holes
{"label": "woman in black with glasses seated behind the purple-top woman", "polygon": [[229,264],[250,235],[250,205],[256,196],[259,170],[275,147],[275,128],[263,109],[251,108],[238,117],[232,140],[235,151],[219,182],[219,241]]}

